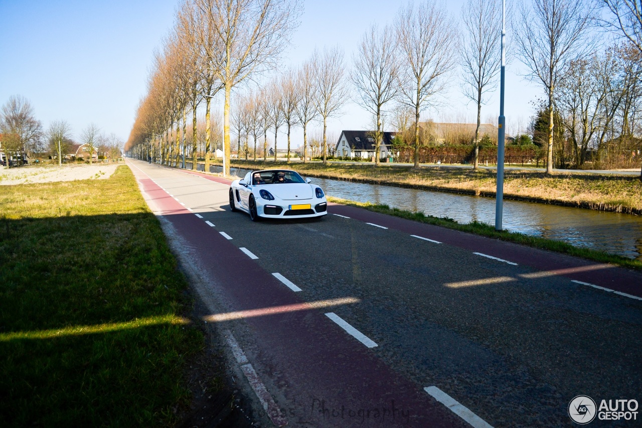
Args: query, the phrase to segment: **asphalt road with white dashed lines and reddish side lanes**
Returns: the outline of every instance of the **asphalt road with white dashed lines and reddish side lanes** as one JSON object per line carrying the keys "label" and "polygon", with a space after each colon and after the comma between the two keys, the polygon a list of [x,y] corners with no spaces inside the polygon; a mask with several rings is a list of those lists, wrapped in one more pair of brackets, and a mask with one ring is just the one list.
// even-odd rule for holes
{"label": "asphalt road with white dashed lines and reddish side lanes", "polygon": [[252,223],[225,179],[128,163],[275,424],[571,426],[577,395],[642,401],[638,272],[346,206]]}

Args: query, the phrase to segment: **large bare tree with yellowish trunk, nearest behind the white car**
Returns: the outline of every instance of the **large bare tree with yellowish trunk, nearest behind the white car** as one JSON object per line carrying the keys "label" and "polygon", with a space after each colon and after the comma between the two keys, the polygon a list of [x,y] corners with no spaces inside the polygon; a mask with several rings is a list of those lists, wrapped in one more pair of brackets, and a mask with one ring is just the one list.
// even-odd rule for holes
{"label": "large bare tree with yellowish trunk, nearest behind the white car", "polygon": [[225,89],[223,135],[225,171],[229,175],[230,94],[232,87],[272,69],[290,46],[302,6],[300,0],[193,0],[216,29],[214,42],[202,46]]}

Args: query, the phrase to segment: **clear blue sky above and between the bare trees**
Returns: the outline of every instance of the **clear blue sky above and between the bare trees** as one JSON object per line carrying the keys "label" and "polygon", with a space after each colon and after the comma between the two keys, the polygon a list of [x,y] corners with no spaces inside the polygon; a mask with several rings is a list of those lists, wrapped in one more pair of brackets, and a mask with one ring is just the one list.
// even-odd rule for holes
{"label": "clear blue sky above and between the bare trees", "polygon": [[[462,3],[448,1],[447,9],[458,16]],[[79,136],[94,122],[106,134],[114,132],[125,141],[146,93],[153,49],[171,28],[176,4],[175,0],[0,0],[0,104],[20,94],[30,100],[45,129],[51,121],[64,119]],[[286,65],[299,64],[315,46],[335,44],[345,49],[351,62],[363,32],[373,22],[392,21],[401,4],[306,1]],[[530,101],[541,96],[540,89],[517,75],[518,67],[515,60],[507,71],[509,132],[519,120],[526,125],[534,111]],[[422,117],[474,120],[474,105],[466,105],[456,73],[446,96],[447,107],[426,111]],[[493,117],[496,122],[498,98],[496,91],[482,108],[482,121]],[[369,123],[368,114],[349,103],[342,116],[329,123],[329,130],[338,136],[342,129],[365,129]],[[298,134],[293,134],[295,140]],[[279,147],[282,142],[280,137]]]}

